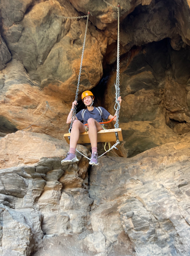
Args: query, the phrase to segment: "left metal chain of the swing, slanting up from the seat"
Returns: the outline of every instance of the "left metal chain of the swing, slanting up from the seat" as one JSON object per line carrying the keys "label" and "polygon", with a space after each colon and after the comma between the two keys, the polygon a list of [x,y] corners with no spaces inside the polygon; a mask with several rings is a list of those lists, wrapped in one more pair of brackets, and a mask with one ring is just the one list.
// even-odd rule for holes
{"label": "left metal chain of the swing, slanting up from the seat", "polygon": [[[82,55],[81,55],[81,61],[80,61],[80,69],[79,69],[79,74],[78,74],[78,83],[77,83],[76,96],[75,96],[76,102],[78,100],[78,90],[79,90],[79,85],[80,85],[80,77],[81,77],[83,57],[84,57],[84,51],[85,51],[85,40],[86,40],[86,33],[87,33],[87,27],[88,27],[89,13],[90,12],[88,11],[88,15],[86,15],[87,20],[86,20],[86,28],[85,28],[85,37],[84,37],[84,42],[83,42],[83,49],[82,49]],[[73,122],[75,121],[75,119],[76,119],[76,105],[74,106],[74,110],[73,110],[73,114],[72,114],[72,118],[71,118],[71,124],[70,124],[70,128],[68,130],[69,133],[71,132]]]}

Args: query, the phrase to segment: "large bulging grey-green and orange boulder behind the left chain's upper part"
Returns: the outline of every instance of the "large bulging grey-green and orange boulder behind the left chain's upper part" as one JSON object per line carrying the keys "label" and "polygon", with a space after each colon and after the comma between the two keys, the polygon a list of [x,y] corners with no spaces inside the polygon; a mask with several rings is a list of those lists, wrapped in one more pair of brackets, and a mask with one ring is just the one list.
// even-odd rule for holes
{"label": "large bulging grey-green and orange boulder behind the left chain's upper part", "polygon": [[[14,17],[12,22],[3,17],[3,36],[13,59],[23,63],[33,83],[40,88],[45,87],[46,94],[54,94],[68,102],[74,96],[72,87],[76,85],[80,67],[85,20],[64,19],[62,16],[78,16],[68,4],[62,7],[58,1],[39,1],[35,5],[32,2],[24,16],[22,13],[22,17]],[[14,4],[11,1],[7,3],[10,9]],[[25,5],[22,0],[24,10]],[[15,21],[17,24],[13,24]],[[102,76],[104,49],[98,45],[96,37],[98,33],[96,36],[87,33],[84,70],[86,66],[91,67],[91,71],[85,70],[82,75],[83,88],[80,91],[85,87],[94,87]]]}

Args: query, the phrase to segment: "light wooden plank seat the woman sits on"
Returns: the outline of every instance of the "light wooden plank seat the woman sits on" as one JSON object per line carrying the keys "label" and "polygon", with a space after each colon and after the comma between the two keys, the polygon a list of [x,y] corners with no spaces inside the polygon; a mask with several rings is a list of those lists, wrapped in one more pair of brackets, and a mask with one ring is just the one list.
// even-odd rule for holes
{"label": "light wooden plank seat the woman sits on", "polygon": [[[115,134],[116,133],[116,134]],[[97,142],[111,142],[116,141],[116,136],[118,136],[119,141],[123,140],[122,136],[122,129],[116,128],[116,129],[108,129],[108,130],[100,130],[97,132]],[[66,139],[66,142],[70,144],[70,133],[64,134],[64,138]],[[88,137],[88,132],[80,133],[79,140],[77,144],[85,144],[90,143],[90,139]]]}

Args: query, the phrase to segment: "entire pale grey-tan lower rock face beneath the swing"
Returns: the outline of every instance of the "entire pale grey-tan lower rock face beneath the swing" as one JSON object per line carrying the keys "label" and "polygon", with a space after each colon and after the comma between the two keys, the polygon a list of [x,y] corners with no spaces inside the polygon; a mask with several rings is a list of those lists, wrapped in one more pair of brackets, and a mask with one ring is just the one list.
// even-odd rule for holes
{"label": "entire pale grey-tan lower rock face beneath the swing", "polygon": [[[89,256],[190,254],[190,137],[130,159],[100,158],[99,165],[90,168],[89,178],[84,157],[77,156],[77,164],[61,166],[63,142],[18,131],[0,140],[7,141],[10,158],[18,150],[15,142],[15,151],[10,151],[11,137],[19,139],[21,148],[27,142],[30,152],[25,149],[27,165],[8,161],[18,166],[0,170],[2,256],[29,256],[37,250],[37,256],[43,255],[44,249],[39,249],[43,234],[44,238],[75,235]],[[52,150],[42,150],[34,162],[31,156],[37,144]],[[84,147],[78,149],[88,156]]]}

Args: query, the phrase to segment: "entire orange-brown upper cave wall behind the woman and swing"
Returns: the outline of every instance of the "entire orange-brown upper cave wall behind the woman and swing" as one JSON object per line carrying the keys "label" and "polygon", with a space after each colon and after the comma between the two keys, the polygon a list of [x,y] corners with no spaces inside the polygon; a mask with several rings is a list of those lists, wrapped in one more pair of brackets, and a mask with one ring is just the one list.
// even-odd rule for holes
{"label": "entire orange-brown upper cave wall behind the woman and swing", "polygon": [[[85,32],[85,19],[63,16],[87,10],[79,100],[82,91],[92,89],[96,104],[114,114],[116,8],[101,0],[1,0],[0,6],[1,134],[28,128],[63,137]],[[121,1],[120,6],[119,154],[131,157],[190,131],[190,8],[178,0]]]}

